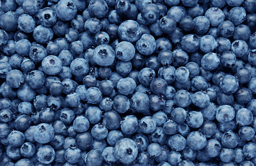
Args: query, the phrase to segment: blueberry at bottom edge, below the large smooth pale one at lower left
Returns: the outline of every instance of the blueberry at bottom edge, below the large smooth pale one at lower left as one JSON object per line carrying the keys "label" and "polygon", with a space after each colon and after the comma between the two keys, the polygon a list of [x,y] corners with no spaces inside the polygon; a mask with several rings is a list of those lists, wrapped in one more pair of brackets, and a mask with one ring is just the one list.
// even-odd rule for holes
{"label": "blueberry at bottom edge, below the large smooth pale one at lower left", "polygon": [[50,164],[55,158],[55,151],[50,145],[44,145],[37,151],[37,159],[43,164]]}

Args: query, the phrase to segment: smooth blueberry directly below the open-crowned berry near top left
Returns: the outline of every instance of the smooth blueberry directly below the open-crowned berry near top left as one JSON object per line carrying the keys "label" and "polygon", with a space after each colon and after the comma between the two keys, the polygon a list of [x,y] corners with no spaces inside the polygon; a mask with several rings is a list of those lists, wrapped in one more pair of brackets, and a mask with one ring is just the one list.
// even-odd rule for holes
{"label": "smooth blueberry directly below the open-crowned berry near top left", "polygon": [[38,25],[33,31],[33,38],[40,44],[45,44],[53,39],[52,28],[44,25]]}

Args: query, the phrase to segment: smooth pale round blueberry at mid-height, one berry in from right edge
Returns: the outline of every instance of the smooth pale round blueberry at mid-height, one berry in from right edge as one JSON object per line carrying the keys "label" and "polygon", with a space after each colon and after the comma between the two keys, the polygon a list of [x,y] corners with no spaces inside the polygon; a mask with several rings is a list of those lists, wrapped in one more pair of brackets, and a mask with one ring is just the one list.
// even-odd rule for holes
{"label": "smooth pale round blueberry at mid-height, one berry in from right edge", "polygon": [[220,88],[227,94],[237,91],[239,86],[238,80],[234,76],[227,75],[220,81]]}

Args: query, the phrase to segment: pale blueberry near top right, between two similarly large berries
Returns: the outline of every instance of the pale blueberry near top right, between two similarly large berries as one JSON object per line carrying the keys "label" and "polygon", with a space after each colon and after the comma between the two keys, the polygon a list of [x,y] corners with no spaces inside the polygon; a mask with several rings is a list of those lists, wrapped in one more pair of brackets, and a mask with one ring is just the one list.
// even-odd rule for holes
{"label": "pale blueberry near top right, between two similarly large berries", "polygon": [[218,26],[225,19],[224,12],[217,7],[211,7],[207,9],[204,13],[204,16],[209,19],[211,26]]}

